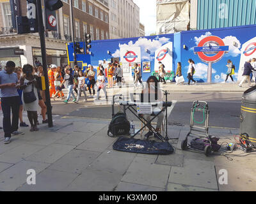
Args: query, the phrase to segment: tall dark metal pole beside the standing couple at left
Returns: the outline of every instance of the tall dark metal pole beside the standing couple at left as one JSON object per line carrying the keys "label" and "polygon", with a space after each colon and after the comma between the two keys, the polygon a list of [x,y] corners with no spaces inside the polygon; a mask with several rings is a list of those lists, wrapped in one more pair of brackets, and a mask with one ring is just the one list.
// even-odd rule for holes
{"label": "tall dark metal pole beside the standing couple at left", "polygon": [[48,79],[46,48],[45,48],[45,28],[44,28],[44,22],[43,22],[41,0],[36,0],[36,10],[37,10],[37,17],[38,17],[38,32],[39,32],[40,43],[41,43],[42,63],[43,63],[43,70],[44,70],[44,77],[45,77],[45,87],[46,87],[45,99],[46,99],[46,106],[47,106],[48,126],[49,128],[52,128],[53,126],[52,109],[51,109],[51,99],[50,99],[50,92],[49,92],[49,79]]}

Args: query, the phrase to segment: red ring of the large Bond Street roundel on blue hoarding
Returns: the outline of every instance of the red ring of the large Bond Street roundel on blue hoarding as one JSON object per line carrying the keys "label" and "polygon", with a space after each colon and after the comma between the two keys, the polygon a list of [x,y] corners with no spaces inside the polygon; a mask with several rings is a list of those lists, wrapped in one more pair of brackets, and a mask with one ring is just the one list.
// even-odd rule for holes
{"label": "red ring of the large Bond Street roundel on blue hoarding", "polygon": [[[204,47],[206,43],[218,43],[219,46],[225,46],[225,43],[223,42],[223,40],[221,40],[221,38],[217,36],[208,36],[200,41],[198,47]],[[197,54],[198,57],[200,57],[200,59],[202,59],[202,61],[204,62],[217,62],[223,57],[225,51],[220,51],[216,55],[211,57],[205,55],[204,52],[197,52]]]}

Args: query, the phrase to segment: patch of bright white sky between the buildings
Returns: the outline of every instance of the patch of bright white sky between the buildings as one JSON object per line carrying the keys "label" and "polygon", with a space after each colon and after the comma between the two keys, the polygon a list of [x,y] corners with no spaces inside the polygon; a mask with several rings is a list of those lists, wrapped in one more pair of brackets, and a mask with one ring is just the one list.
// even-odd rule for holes
{"label": "patch of bright white sky between the buildings", "polygon": [[140,7],[140,22],[145,25],[145,35],[156,33],[156,0],[133,0]]}

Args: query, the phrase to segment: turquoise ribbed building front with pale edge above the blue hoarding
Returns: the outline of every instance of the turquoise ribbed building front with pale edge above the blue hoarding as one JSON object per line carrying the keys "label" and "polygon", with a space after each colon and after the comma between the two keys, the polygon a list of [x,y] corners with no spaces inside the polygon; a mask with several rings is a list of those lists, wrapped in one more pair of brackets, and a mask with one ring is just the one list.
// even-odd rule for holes
{"label": "turquoise ribbed building front with pale edge above the blue hoarding", "polygon": [[215,29],[256,24],[256,1],[191,0],[191,29]]}

